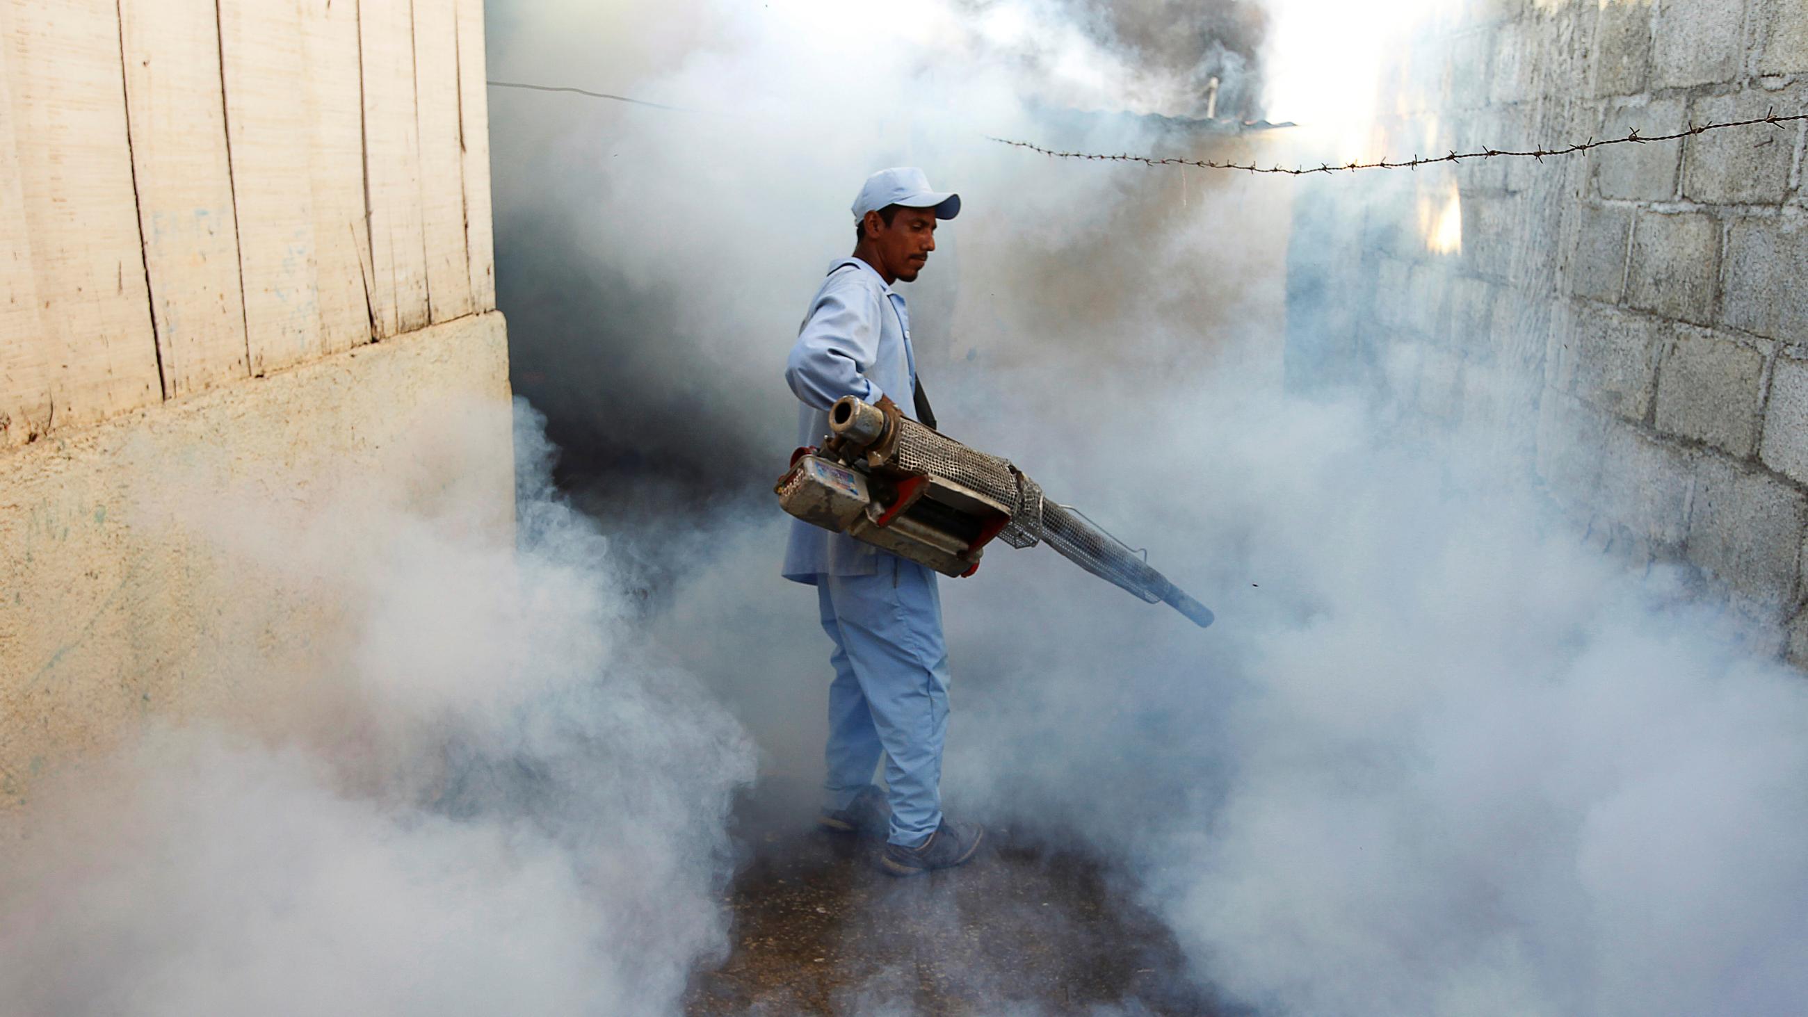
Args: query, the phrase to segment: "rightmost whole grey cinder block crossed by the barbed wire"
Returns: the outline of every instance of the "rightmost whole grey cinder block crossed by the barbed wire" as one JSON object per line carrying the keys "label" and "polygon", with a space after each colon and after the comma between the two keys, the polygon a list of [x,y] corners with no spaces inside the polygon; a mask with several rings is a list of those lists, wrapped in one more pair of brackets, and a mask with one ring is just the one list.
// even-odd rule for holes
{"label": "rightmost whole grey cinder block crossed by the barbed wire", "polygon": [[[1689,108],[1698,125],[1754,119],[1799,107],[1801,90],[1707,96]],[[1795,125],[1710,130],[1683,141],[1683,197],[1703,204],[1783,204],[1795,161]]]}

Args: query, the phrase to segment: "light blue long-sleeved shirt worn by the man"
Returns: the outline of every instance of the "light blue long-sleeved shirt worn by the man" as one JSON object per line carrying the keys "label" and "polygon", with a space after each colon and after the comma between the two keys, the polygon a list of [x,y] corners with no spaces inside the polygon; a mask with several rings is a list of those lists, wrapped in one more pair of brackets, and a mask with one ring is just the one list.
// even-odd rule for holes
{"label": "light blue long-sleeved shirt worn by the man", "polygon": [[[843,258],[810,300],[810,313],[797,329],[785,383],[803,406],[797,408],[797,444],[821,446],[828,437],[828,408],[843,396],[877,403],[891,396],[899,410],[915,417],[917,354],[909,345],[909,314],[871,266]],[[785,578],[815,585],[815,576],[870,576],[880,556],[871,544],[792,520],[785,547]]]}

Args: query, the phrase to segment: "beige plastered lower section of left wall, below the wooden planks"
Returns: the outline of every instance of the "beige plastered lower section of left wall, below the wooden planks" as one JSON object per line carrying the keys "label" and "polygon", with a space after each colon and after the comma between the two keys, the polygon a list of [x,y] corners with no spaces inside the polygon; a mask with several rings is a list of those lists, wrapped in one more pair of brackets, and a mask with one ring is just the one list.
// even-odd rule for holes
{"label": "beige plastered lower section of left wall, below the wooden planks", "polygon": [[512,526],[506,406],[488,313],[0,459],[0,804],[137,717],[251,706],[333,663],[334,591],[260,574],[221,533],[239,513],[280,533],[362,484]]}

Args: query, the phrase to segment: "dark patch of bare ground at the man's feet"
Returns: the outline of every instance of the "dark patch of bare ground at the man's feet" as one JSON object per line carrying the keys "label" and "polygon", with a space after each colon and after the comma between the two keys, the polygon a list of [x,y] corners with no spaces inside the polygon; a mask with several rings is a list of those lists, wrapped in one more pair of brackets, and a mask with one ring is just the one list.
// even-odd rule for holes
{"label": "dark patch of bare ground at the man's feet", "polygon": [[1087,858],[994,829],[967,867],[893,880],[873,842],[799,829],[796,807],[736,818],[732,952],[692,979],[689,1013],[1229,1015]]}

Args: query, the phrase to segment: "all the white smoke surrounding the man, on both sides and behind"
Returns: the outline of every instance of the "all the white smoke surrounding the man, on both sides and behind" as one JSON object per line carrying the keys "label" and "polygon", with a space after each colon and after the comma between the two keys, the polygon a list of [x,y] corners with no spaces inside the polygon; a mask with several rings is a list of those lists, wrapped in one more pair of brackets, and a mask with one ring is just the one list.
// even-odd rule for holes
{"label": "all the white smoke surrounding the man, on both sides and behind", "polygon": [[[779,365],[852,246],[846,201],[920,163],[967,201],[906,291],[946,426],[1220,618],[1199,632],[1043,549],[944,583],[953,811],[1103,856],[1264,1013],[1795,1008],[1799,676],[1662,569],[1586,551],[1492,468],[1499,435],[1282,394],[1282,280],[1246,251],[1289,229],[1289,182],[985,141],[1168,143],[1047,114],[1143,101],[1052,7],[774,7],[492,5],[495,78],[691,110],[492,96],[499,255],[532,276],[501,278],[532,294],[504,305],[517,363],[620,412],[598,430],[642,459],[617,486],[660,457],[776,473]],[[550,222],[570,231],[528,229]],[[0,990],[76,1013],[674,1010],[723,947],[721,824],[752,770],[730,715],[767,773],[814,780],[826,641],[776,578],[763,491],[687,513],[631,491],[604,549],[546,497],[544,450],[519,455],[519,553],[452,517],[235,544],[351,578],[344,670],[47,784],[0,876],[33,918],[0,932]],[[385,538],[336,546],[363,526]],[[665,567],[645,603],[622,560]]]}

